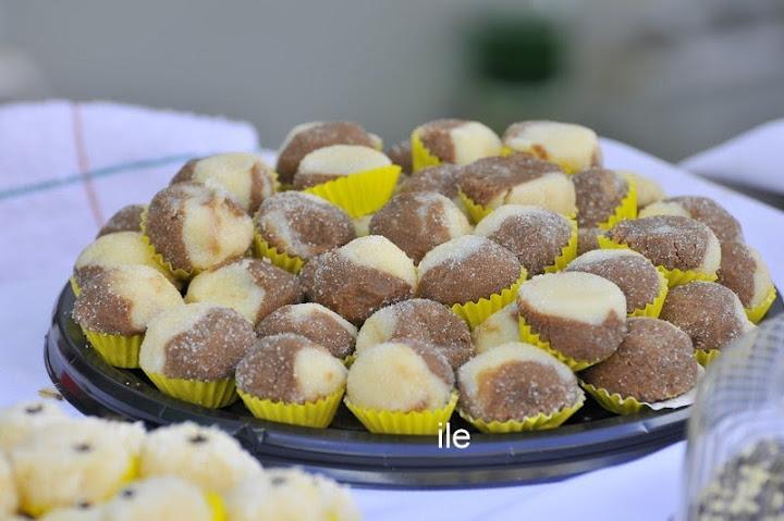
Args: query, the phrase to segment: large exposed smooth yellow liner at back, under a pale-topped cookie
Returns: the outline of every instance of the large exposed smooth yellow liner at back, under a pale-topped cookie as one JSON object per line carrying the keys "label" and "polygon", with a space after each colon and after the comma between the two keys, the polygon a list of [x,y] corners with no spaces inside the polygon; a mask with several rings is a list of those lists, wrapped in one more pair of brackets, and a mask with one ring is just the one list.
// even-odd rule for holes
{"label": "large exposed smooth yellow liner at back, under a pale-topped cookie", "polygon": [[401,168],[396,164],[345,175],[307,188],[313,194],[341,207],[352,218],[373,213],[392,197]]}

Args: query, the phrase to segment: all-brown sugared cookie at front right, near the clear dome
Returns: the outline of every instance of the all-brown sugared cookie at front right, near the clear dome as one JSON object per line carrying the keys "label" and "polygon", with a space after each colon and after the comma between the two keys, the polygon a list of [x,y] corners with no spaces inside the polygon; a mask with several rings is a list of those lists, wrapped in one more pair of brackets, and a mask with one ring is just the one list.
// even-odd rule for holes
{"label": "all-brown sugared cookie at front right, near the clear dome", "polygon": [[699,364],[689,336],[663,320],[628,319],[626,336],[607,360],[580,373],[597,388],[639,401],[663,401],[690,390]]}

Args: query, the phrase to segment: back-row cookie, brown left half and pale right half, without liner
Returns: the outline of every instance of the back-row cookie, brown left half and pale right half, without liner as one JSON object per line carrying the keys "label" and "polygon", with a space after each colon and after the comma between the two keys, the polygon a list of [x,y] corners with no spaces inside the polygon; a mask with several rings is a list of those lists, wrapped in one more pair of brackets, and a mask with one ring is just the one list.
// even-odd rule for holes
{"label": "back-row cookie, brown left half and pale right half, without liner", "polygon": [[434,120],[416,127],[414,134],[443,163],[468,164],[501,153],[501,139],[477,121]]}

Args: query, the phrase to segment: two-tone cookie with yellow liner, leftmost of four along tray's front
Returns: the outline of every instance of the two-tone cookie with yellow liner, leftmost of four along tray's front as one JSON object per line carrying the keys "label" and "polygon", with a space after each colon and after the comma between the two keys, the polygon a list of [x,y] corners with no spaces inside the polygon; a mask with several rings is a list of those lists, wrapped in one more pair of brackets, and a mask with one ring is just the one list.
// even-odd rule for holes
{"label": "two-tone cookie with yellow liner, leftmost of four along tray's front", "polygon": [[223,407],[236,398],[234,369],[255,339],[253,325],[233,309],[177,306],[150,322],[139,368],[167,395]]}

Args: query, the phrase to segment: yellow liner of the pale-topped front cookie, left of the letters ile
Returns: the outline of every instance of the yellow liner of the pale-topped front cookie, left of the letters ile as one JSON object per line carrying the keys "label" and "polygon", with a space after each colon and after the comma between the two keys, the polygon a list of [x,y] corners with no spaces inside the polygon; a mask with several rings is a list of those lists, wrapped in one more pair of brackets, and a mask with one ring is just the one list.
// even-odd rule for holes
{"label": "yellow liner of the pale-topped front cookie, left of the letters ile", "polygon": [[452,393],[449,402],[440,409],[425,411],[385,411],[359,407],[343,399],[348,410],[365,427],[375,434],[438,434],[452,417],[457,405],[457,393]]}

